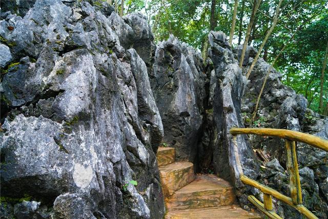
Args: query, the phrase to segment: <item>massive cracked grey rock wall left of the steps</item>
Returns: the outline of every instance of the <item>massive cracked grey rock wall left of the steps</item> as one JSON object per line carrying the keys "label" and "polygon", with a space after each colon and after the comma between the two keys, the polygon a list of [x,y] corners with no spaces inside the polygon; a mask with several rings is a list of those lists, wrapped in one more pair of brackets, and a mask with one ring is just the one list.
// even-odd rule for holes
{"label": "massive cracked grey rock wall left of the steps", "polygon": [[[163,127],[140,58],[148,50],[138,44],[152,41],[149,26],[139,14],[122,19],[89,2],[37,1],[24,18],[2,13],[1,211],[8,218],[165,213],[155,158]],[[137,51],[121,44],[123,27],[140,32],[129,36]]]}

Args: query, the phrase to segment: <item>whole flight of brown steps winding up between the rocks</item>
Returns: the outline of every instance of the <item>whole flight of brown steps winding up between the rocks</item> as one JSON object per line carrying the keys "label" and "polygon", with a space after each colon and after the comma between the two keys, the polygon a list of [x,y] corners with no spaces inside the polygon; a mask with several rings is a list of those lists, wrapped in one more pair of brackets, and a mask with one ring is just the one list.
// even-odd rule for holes
{"label": "whole flight of brown steps winding up between the rocks", "polygon": [[234,205],[234,188],[214,174],[196,175],[190,162],[175,162],[175,150],[159,147],[157,163],[167,219],[262,218]]}

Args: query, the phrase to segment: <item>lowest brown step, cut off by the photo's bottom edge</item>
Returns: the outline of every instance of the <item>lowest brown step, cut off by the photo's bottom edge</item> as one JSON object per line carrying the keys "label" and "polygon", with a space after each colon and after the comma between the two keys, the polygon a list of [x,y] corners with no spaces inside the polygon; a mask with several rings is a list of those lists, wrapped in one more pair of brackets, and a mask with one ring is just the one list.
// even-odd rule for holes
{"label": "lowest brown step, cut off by the photo's bottom edge", "polygon": [[245,211],[237,206],[222,206],[215,208],[195,208],[177,211],[169,211],[166,219],[254,219],[263,218],[257,213]]}

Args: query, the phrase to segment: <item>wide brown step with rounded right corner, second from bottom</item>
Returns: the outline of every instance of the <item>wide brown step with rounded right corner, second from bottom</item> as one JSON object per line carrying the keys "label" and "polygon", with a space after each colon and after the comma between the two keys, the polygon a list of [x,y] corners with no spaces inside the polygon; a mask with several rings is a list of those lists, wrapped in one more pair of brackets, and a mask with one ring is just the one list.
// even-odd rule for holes
{"label": "wide brown step with rounded right corner, second from bottom", "polygon": [[232,205],[234,188],[213,174],[196,175],[193,182],[166,198],[169,211]]}

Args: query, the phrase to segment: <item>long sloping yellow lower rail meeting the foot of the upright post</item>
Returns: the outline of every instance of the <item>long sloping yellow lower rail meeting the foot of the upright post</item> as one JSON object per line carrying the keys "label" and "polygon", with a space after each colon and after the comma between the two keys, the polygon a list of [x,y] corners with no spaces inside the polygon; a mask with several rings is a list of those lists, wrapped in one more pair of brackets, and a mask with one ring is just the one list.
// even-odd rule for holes
{"label": "long sloping yellow lower rail meeting the foot of the upright post", "polygon": [[261,190],[261,192],[263,193],[267,193],[270,194],[276,198],[278,198],[278,200],[290,205],[291,207],[295,208],[296,210],[298,210],[301,214],[304,214],[306,217],[310,218],[310,219],[318,219],[318,217],[316,217],[316,215],[314,215],[311,211],[309,211],[307,208],[305,208],[303,205],[294,205],[292,198],[287,197],[283,194],[281,194],[280,192],[269,188],[268,186],[264,186],[258,182],[256,182],[255,180],[252,180],[251,178],[241,175],[240,176],[240,180],[241,182],[243,182],[244,184],[253,186],[259,190]]}

